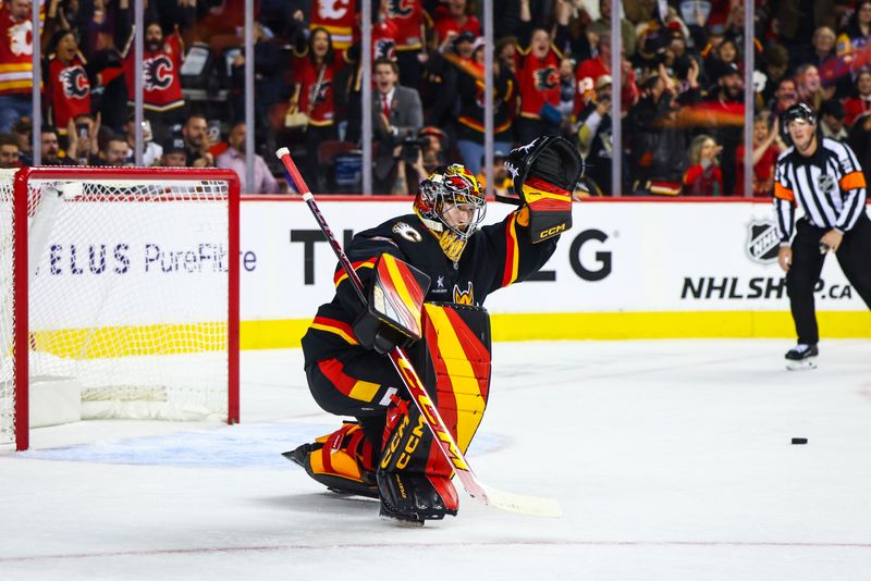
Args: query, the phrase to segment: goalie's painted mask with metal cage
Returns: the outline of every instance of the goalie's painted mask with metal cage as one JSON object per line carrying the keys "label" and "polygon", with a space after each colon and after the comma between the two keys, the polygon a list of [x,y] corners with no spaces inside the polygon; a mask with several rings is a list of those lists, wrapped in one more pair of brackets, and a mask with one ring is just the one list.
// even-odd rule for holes
{"label": "goalie's painted mask with metal cage", "polygon": [[445,256],[456,262],[483,220],[486,203],[475,176],[454,163],[437,168],[420,182],[415,212],[439,238]]}

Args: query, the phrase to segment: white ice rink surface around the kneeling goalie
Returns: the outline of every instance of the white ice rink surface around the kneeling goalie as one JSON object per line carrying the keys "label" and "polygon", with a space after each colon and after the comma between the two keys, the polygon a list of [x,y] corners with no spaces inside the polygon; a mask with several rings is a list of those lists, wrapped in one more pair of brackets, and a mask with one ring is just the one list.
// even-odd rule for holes
{"label": "white ice rink surface around the kneeling goalie", "polygon": [[[561,519],[461,494],[424,529],[280,453],[330,431],[300,354],[243,354],[243,423],[90,421],[0,455],[0,578],[871,579],[871,342],[496,344],[469,461]],[[790,445],[795,436],[807,445]]]}

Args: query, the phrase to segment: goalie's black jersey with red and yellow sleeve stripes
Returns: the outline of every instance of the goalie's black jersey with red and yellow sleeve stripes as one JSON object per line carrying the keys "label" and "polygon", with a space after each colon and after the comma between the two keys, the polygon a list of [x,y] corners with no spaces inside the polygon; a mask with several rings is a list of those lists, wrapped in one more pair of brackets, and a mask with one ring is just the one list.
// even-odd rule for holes
{"label": "goalie's black jersey with red and yellow sleeve stripes", "polygon": [[[416,214],[356,234],[345,251],[366,288],[378,257],[387,252],[430,275],[426,301],[482,306],[490,293],[541,269],[556,249],[559,237],[535,245],[530,242],[528,224],[522,224],[526,213],[514,211],[502,222],[478,230],[456,263]],[[363,305],[341,264],[334,282],[335,296],[318,309],[303,337],[306,367],[348,348],[361,348],[352,327]]]}

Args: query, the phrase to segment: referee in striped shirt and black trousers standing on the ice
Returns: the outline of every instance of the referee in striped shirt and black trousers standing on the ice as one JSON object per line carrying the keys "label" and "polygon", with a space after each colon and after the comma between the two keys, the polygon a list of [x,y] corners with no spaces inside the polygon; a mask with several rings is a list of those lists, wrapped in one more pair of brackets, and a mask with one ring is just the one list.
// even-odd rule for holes
{"label": "referee in striped shirt and black trousers standing on the ice", "polygon": [[[793,147],[781,153],[774,174],[774,208],[786,272],[786,293],[798,345],[786,353],[787,368],[812,368],[818,355],[813,288],[825,254],[835,252],[847,280],[871,309],[871,221],[866,213],[866,182],[856,153],[845,144],[817,134],[817,115],[797,103],[783,116]],[[796,206],[805,215],[793,238]]]}

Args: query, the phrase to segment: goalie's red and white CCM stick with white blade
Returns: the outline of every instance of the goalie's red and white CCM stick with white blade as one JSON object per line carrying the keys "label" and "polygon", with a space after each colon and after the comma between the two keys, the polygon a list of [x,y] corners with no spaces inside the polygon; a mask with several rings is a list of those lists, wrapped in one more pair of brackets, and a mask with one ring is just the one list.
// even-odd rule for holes
{"label": "goalie's red and white CCM stick with white blade", "polygon": [[[347,277],[354,285],[357,296],[363,305],[366,306],[367,300],[363,288],[363,282],[360,282],[359,276],[357,276],[357,272],[354,270],[354,267],[351,265],[351,261],[342,249],[342,245],[339,244],[339,240],[336,239],[335,235],[333,235],[329,224],[327,224],[327,220],[323,218],[320,208],[315,201],[315,196],[311,195],[311,190],[308,188],[303,180],[303,176],[299,174],[299,170],[296,169],[296,164],[291,157],[291,151],[286,147],[282,147],[275,151],[275,156],[284,164],[284,169],[287,171],[287,180],[296,188],[296,190],[303,195],[303,200],[305,200],[308,209],[311,210],[315,220],[318,222],[318,226],[320,226],[321,232],[323,232],[324,237],[330,243],[330,246],[339,259],[339,262],[347,273]],[[552,498],[514,494],[487,486],[480,480],[478,480],[478,477],[475,475],[471,467],[466,461],[466,457],[456,445],[454,436],[452,436],[451,432],[447,430],[447,427],[439,413],[439,410],[429,398],[429,394],[427,393],[424,383],[420,381],[417,371],[415,371],[414,366],[412,366],[412,362],[408,359],[408,356],[405,354],[405,350],[401,347],[394,347],[388,355],[393,363],[393,367],[396,369],[396,372],[400,374],[400,378],[405,384],[405,387],[408,390],[412,400],[418,407],[425,422],[432,431],[432,435],[439,445],[439,449],[444,455],[445,459],[451,463],[451,467],[454,469],[454,472],[463,483],[463,487],[466,490],[469,496],[488,506],[507,510],[510,512],[518,512],[520,515],[531,515],[537,517],[559,517],[562,515],[560,505]]]}

